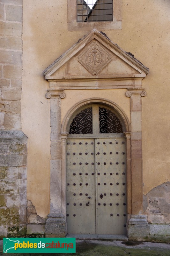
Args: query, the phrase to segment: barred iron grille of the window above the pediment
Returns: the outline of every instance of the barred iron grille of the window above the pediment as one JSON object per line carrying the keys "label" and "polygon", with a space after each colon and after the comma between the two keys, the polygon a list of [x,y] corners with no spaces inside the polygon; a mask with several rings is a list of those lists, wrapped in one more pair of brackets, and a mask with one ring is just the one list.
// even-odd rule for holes
{"label": "barred iron grille of the window above the pediment", "polygon": [[113,0],[77,0],[77,21],[113,20]]}

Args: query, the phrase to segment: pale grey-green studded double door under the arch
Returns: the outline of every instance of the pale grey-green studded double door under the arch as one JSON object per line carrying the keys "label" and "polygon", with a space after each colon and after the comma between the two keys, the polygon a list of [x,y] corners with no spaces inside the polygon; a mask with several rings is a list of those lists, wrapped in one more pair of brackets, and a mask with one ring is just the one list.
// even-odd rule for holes
{"label": "pale grey-green studded double door under the arch", "polygon": [[123,134],[67,139],[66,170],[67,233],[126,234]]}

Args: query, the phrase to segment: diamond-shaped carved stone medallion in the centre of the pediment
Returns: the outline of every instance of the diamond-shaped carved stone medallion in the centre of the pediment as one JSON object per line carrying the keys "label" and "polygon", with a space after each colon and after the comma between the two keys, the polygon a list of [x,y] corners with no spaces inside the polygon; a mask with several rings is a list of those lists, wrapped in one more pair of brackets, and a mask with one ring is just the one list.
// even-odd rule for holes
{"label": "diamond-shaped carved stone medallion in the centre of the pediment", "polygon": [[112,56],[98,42],[93,41],[78,56],[78,61],[92,74],[98,75],[100,71],[112,60]]}

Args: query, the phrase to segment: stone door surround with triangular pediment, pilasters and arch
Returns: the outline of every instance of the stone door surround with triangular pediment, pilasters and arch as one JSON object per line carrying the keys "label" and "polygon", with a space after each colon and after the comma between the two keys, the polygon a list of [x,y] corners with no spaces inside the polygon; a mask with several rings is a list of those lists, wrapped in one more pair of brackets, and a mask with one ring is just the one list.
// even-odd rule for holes
{"label": "stone door surround with triangular pediment, pilasters and arch", "polygon": [[[95,65],[89,65],[91,63],[89,63],[88,51],[91,46],[92,49],[95,50],[96,45],[100,47],[103,53],[102,61],[104,61],[101,68],[97,70],[98,75],[93,72],[94,69],[96,70],[96,68],[94,68]],[[111,60],[109,63],[107,62],[108,58]],[[85,63],[87,65],[85,65]],[[107,66],[105,66],[106,63]],[[66,146],[68,146],[66,140],[67,136],[68,139],[71,139],[70,136],[73,136],[72,139],[74,140],[77,140],[78,136],[80,136],[80,134],[71,135],[68,132],[71,121],[74,116],[78,114],[75,111],[82,106],[86,107],[88,104],[92,103],[105,104],[106,108],[113,107],[114,110],[112,111],[122,122],[123,134],[125,135],[125,138],[122,138],[124,140],[126,139],[126,152],[124,152],[126,153],[127,172],[126,199],[127,213],[129,215],[127,227],[128,236],[130,238],[134,237],[134,228],[137,230],[137,234],[139,233],[138,230],[145,229],[145,225],[147,225],[147,216],[142,215],[143,219],[141,221],[141,214],[143,213],[141,97],[146,95],[146,92],[142,87],[142,80],[148,72],[149,69],[136,60],[133,55],[123,51],[117,44],[114,44],[103,33],[100,33],[96,29],[92,30],[81,40],[78,40],[78,42],[67,52],[62,54],[54,63],[44,70],[43,75],[45,76],[45,79],[49,81],[49,90],[46,93],[46,97],[50,99],[51,123],[50,213],[46,221],[46,237],[63,237],[66,235],[65,193],[67,187],[66,156],[68,156],[66,155]],[[95,97],[96,95],[98,96],[97,98]],[[130,100],[127,100],[125,95]],[[115,102],[119,102],[120,106]],[[125,112],[122,108],[126,109]],[[81,109],[79,109],[79,111],[81,111]],[[113,137],[107,136],[108,134],[109,136],[113,135]],[[116,136],[116,133],[108,134],[104,133],[103,136],[107,136],[104,137],[104,139],[114,140],[114,135]],[[93,135],[93,133],[86,134],[84,139],[87,140],[91,138],[95,141],[98,139],[102,140],[100,133],[98,134],[98,136],[100,135],[99,137],[92,137]],[[115,138],[121,139],[119,137]],[[81,137],[80,139],[83,138]],[[97,145],[101,146],[102,143]],[[101,154],[99,156],[101,156]],[[77,164],[74,166],[77,166]],[[85,177],[89,177],[89,174],[85,175]],[[96,188],[96,180],[94,185]],[[107,187],[107,185],[104,186]],[[76,204],[73,206],[77,206],[77,202],[73,204]],[[102,221],[105,217],[106,216],[102,218]],[[85,216],[85,219],[86,218],[87,217]],[[84,225],[84,220],[81,223],[82,226]],[[97,225],[96,223],[97,219],[95,218],[95,225]],[[116,234],[117,233],[118,232],[116,232]],[[135,239],[137,239],[136,235]]]}

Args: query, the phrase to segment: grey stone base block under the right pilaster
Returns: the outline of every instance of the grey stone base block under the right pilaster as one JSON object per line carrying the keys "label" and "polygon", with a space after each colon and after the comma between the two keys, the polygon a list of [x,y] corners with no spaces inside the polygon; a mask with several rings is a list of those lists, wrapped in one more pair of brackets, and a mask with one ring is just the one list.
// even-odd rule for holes
{"label": "grey stone base block under the right pilaster", "polygon": [[129,241],[149,241],[149,233],[147,215],[130,215],[128,222]]}

